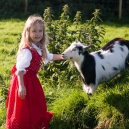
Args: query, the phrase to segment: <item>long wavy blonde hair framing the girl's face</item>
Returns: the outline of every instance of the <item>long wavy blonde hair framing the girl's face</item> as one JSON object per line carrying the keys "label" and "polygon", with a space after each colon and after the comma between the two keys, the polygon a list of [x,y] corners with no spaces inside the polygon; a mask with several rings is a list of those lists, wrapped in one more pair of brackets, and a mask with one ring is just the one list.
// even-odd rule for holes
{"label": "long wavy blonde hair framing the girl's face", "polygon": [[37,22],[39,24],[41,24],[43,27],[43,38],[41,39],[40,43],[41,43],[41,49],[42,49],[42,57],[43,57],[43,59],[46,59],[47,58],[46,46],[48,44],[48,35],[46,33],[46,30],[45,30],[43,18],[37,14],[29,16],[29,18],[27,19],[27,21],[25,23],[25,26],[24,26],[24,29],[22,32],[21,42],[19,45],[19,51],[25,47],[33,48],[32,42],[30,39],[30,28]]}

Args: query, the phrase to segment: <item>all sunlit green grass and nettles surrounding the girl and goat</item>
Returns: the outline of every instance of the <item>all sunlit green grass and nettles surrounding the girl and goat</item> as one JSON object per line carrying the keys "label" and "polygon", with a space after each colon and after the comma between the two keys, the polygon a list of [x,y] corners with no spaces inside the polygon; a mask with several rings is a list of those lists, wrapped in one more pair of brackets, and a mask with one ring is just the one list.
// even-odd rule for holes
{"label": "all sunlit green grass and nettles surrounding the girl and goat", "polygon": [[[63,6],[55,20],[51,8],[44,9],[49,51],[61,53],[78,38],[98,50],[115,37],[128,39],[128,24],[102,22],[100,11],[94,10],[90,20],[82,20],[81,11],[70,17],[68,5]],[[0,128],[4,129],[5,100],[10,81],[10,70],[16,62],[16,53],[25,20],[0,20]],[[43,65],[39,78],[43,84],[47,104],[55,116],[50,129],[128,129],[129,77],[128,70],[118,77],[99,85],[93,96],[82,91],[82,83],[74,65],[69,61],[56,61]]]}

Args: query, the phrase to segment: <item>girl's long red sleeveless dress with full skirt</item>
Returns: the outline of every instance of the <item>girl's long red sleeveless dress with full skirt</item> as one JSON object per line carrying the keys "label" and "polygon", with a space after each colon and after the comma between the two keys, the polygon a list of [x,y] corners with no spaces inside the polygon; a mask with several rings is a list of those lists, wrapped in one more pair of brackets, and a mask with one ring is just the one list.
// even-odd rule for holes
{"label": "girl's long red sleeveless dress with full skirt", "polygon": [[23,77],[26,87],[25,99],[18,97],[18,79],[15,74],[16,66],[12,68],[6,103],[7,129],[48,129],[48,123],[53,117],[53,113],[47,111],[44,92],[37,78],[42,58],[35,49],[29,50],[32,53],[32,60],[30,66],[26,68],[26,73]]}

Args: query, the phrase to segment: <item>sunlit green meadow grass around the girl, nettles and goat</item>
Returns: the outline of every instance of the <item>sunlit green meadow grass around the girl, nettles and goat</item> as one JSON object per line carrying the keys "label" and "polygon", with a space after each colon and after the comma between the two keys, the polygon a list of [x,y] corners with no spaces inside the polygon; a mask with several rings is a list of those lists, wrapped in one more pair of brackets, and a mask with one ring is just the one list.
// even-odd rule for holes
{"label": "sunlit green meadow grass around the girl, nettles and goat", "polygon": [[[25,20],[20,19],[0,20],[0,129],[4,129],[5,100],[10,81],[10,70],[16,62],[16,53],[24,23]],[[101,25],[105,28],[105,35],[100,38],[101,46],[116,37],[129,40],[128,24],[102,22]],[[46,72],[48,66],[49,64],[44,69]],[[69,71],[68,68],[66,71]],[[53,69],[55,68],[51,67],[51,70]],[[72,66],[71,69],[75,67]],[[60,69],[58,70],[60,73]],[[55,114],[50,123],[50,129],[128,129],[128,74],[128,70],[123,71],[118,77],[100,84],[94,95],[89,97],[82,90],[81,78],[77,72],[76,82],[72,82],[72,78],[63,76],[66,81],[57,82],[58,85],[55,86],[57,83],[52,80],[53,78],[48,75],[43,76],[45,74],[41,70],[39,78],[43,84],[48,109]],[[61,75],[58,74],[58,76]]]}

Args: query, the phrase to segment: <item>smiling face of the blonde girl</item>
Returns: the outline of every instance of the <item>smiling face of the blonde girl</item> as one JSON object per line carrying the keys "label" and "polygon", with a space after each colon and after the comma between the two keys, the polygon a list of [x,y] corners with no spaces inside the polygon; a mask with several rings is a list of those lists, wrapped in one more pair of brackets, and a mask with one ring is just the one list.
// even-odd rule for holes
{"label": "smiling face of the blonde girl", "polygon": [[39,23],[35,23],[30,27],[30,38],[35,45],[38,45],[43,38],[43,26]]}

